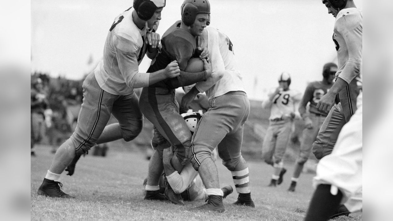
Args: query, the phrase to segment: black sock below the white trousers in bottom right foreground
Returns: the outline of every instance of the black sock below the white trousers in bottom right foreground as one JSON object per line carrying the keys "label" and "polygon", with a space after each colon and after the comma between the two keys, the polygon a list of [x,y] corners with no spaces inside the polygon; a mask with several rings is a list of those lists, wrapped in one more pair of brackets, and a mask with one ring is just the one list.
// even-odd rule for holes
{"label": "black sock below the white trousers in bottom right foreground", "polygon": [[337,195],[332,195],[330,188],[329,184],[318,185],[304,221],[326,221],[334,214],[343,195],[340,190]]}

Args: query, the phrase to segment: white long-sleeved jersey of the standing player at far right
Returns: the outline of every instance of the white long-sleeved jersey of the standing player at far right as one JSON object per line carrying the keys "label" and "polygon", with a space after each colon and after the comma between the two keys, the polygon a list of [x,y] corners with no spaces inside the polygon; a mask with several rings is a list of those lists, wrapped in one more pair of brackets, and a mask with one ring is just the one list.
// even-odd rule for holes
{"label": "white long-sleeved jersey of the standing player at far right", "polygon": [[342,9],[334,23],[333,41],[336,44],[339,76],[347,83],[362,73],[362,11]]}

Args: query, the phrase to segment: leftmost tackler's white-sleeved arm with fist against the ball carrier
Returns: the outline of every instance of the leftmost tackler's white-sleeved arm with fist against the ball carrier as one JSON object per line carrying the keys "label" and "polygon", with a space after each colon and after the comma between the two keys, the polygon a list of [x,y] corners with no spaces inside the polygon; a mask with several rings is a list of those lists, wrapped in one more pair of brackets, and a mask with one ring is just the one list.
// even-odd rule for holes
{"label": "leftmost tackler's white-sleeved arm with fist against the ball carrier", "polygon": [[156,72],[141,73],[139,72],[138,59],[136,57],[136,52],[138,52],[136,44],[127,39],[127,36],[121,35],[114,36],[114,44],[119,69],[128,87],[147,87],[168,77],[179,75],[180,69],[175,61]]}

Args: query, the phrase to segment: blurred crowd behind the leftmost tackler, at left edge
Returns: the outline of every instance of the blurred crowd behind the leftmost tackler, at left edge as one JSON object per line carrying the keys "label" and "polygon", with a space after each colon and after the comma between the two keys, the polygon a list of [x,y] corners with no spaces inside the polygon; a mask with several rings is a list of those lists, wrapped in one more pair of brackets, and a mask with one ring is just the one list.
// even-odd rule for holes
{"label": "blurred crowd behind the leftmost tackler, at left edge", "polygon": [[46,73],[31,74],[31,155],[35,145],[51,145],[51,152],[75,128],[82,103],[82,80],[50,78]]}

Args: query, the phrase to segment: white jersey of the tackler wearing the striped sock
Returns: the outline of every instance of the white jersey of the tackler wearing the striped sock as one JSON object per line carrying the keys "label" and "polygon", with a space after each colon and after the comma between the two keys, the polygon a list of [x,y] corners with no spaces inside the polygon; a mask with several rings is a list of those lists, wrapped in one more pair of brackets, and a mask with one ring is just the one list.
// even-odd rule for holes
{"label": "white jersey of the tackler wearing the striped sock", "polygon": [[206,27],[200,36],[200,46],[207,47],[211,59],[213,72],[224,72],[224,76],[213,87],[201,88],[206,91],[208,99],[226,94],[230,91],[244,91],[242,76],[237,69],[233,45],[228,36],[218,29]]}

